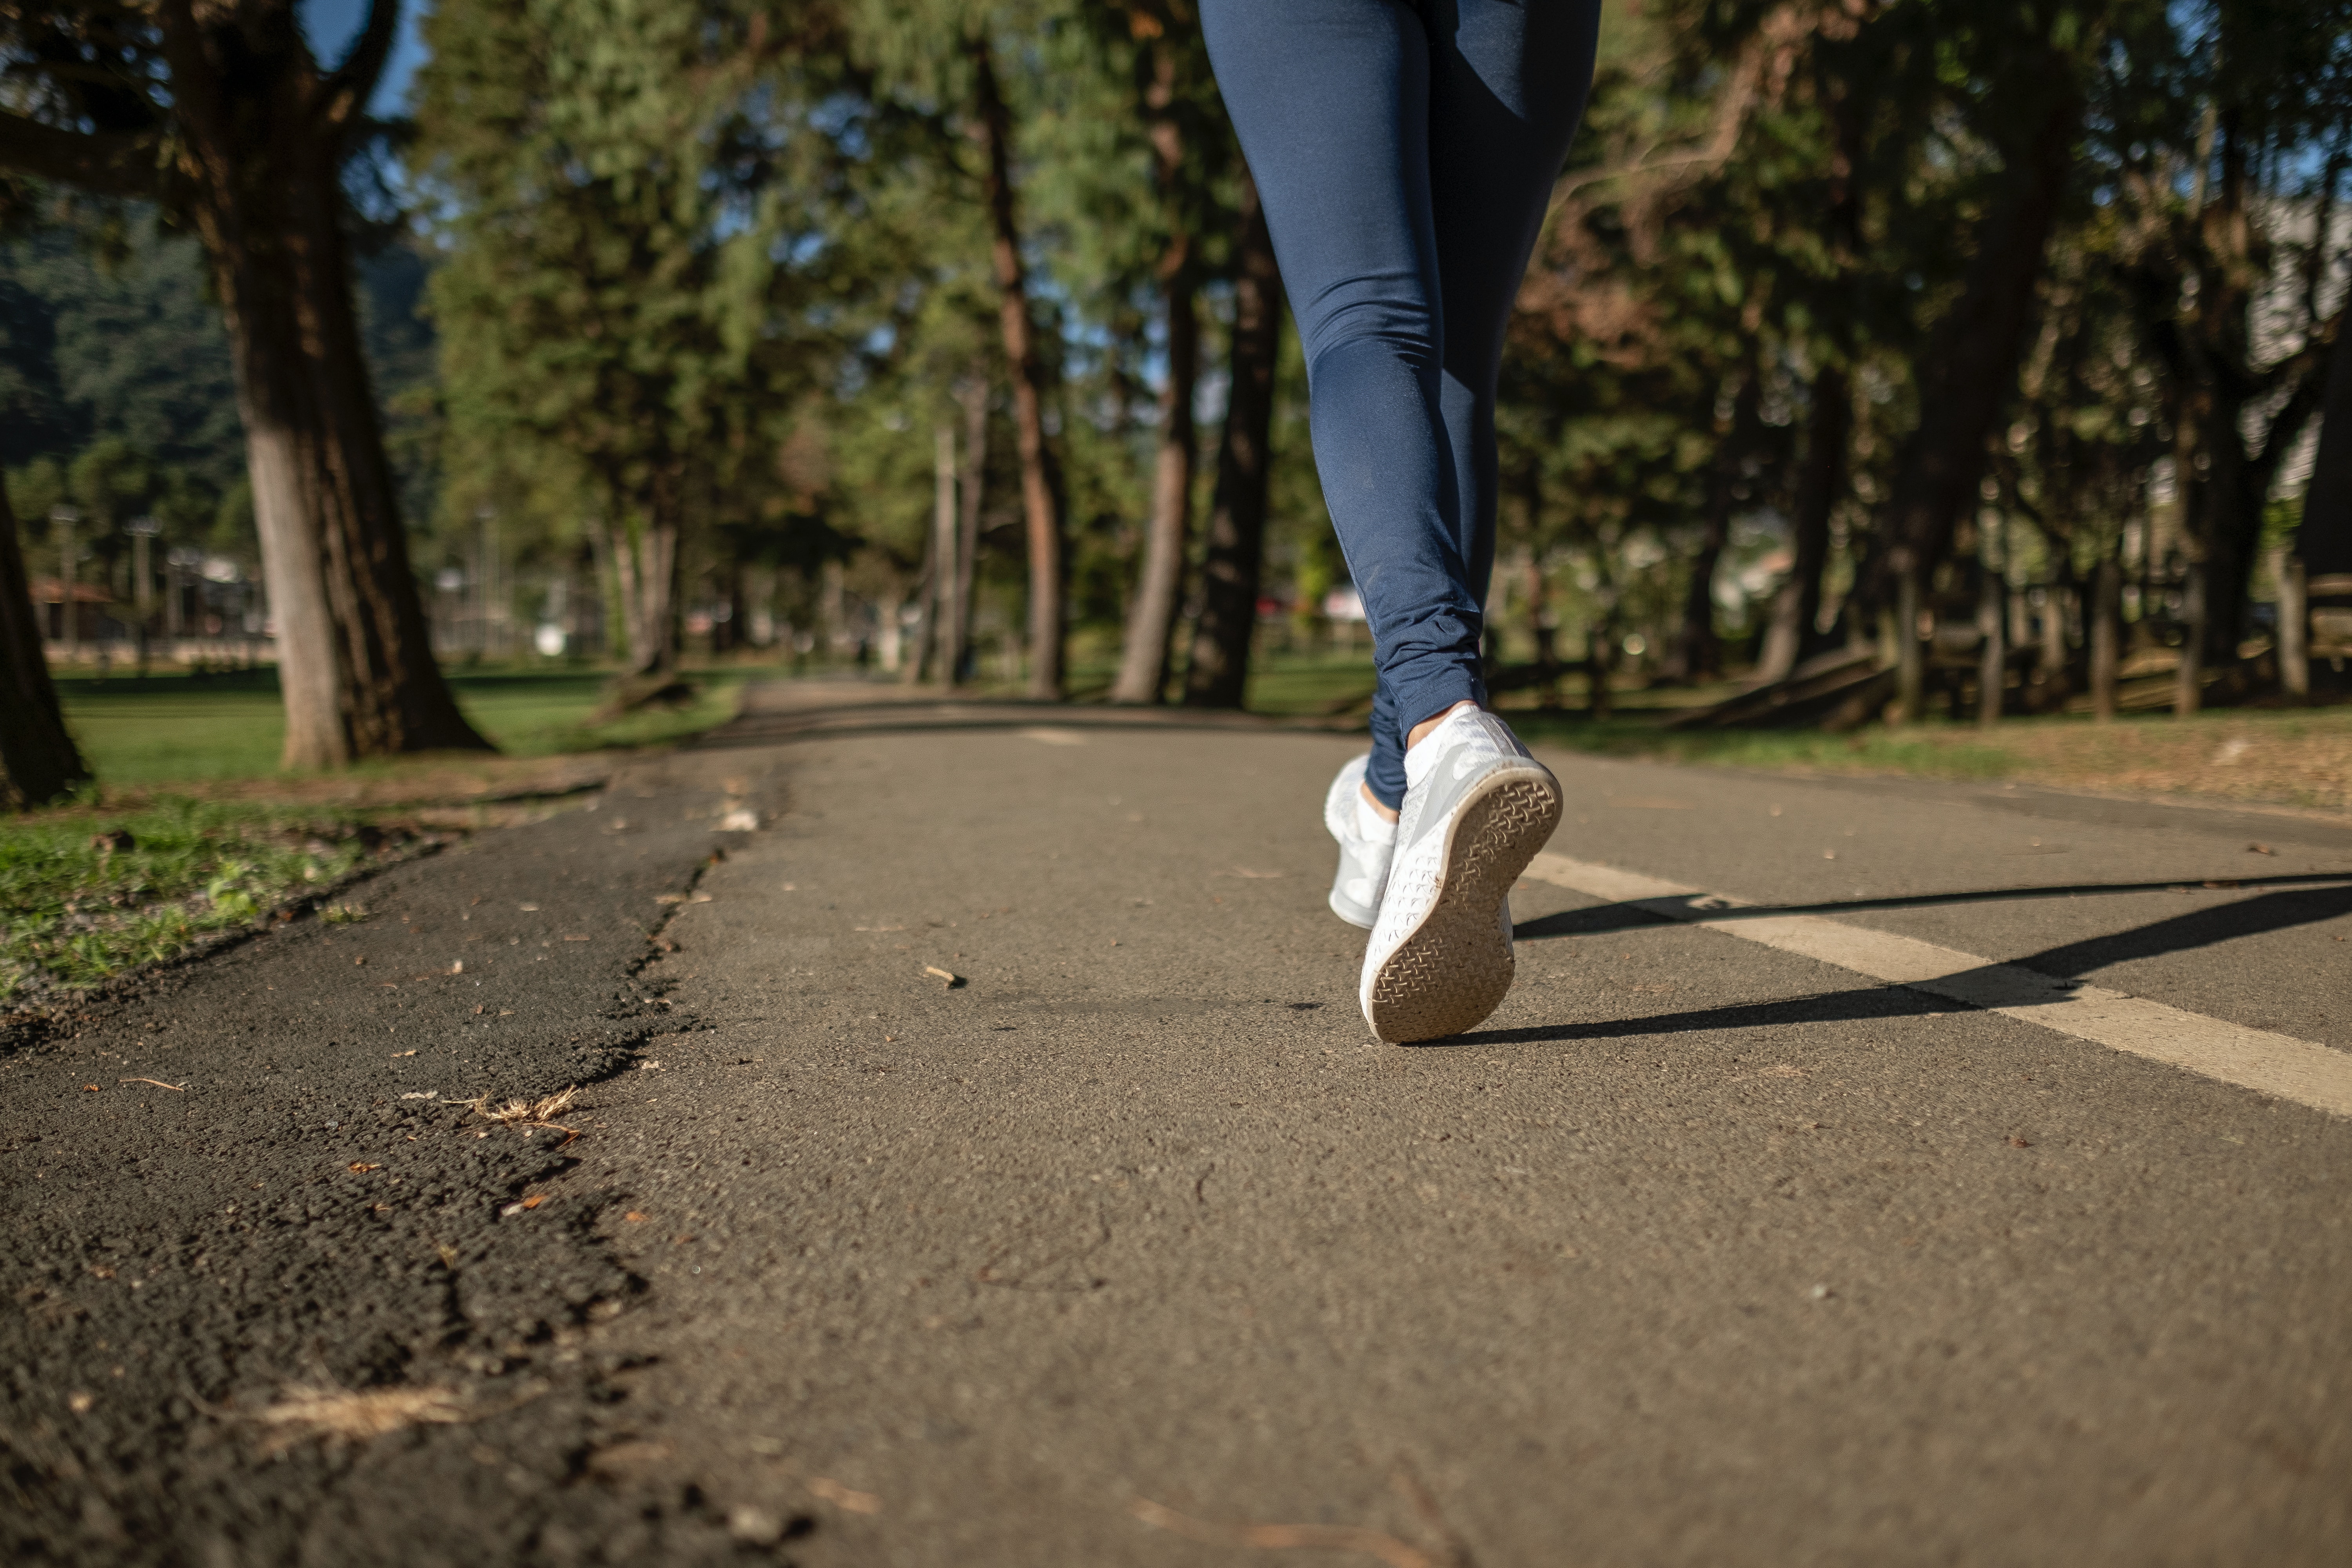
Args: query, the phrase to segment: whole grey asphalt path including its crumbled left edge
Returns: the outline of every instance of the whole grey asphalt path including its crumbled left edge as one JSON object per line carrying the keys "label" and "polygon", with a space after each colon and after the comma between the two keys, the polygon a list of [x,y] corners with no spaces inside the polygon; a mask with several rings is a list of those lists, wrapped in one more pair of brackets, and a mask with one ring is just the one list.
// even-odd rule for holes
{"label": "whole grey asphalt path including its crumbled left edge", "polygon": [[2326,1079],[2352,830],[1555,755],[1517,987],[1392,1048],[1355,741],[887,696],[0,1058],[12,1561],[2352,1552],[2352,1124],[1752,940]]}

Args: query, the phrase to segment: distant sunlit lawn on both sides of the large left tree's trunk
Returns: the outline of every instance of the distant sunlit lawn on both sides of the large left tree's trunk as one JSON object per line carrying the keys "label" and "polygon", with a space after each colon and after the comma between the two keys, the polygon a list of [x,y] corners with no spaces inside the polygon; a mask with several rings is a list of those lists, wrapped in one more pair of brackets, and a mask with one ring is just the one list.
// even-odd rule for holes
{"label": "distant sunlit lawn on both sides of the large left tree's trunk", "polygon": [[[510,757],[550,757],[602,748],[682,741],[734,717],[741,684],[755,670],[691,672],[696,698],[684,708],[647,710],[616,724],[590,724],[604,698],[597,670],[452,672],[459,705]],[[193,677],[151,675],[59,684],[66,722],[106,788],[263,778],[278,771],[285,712],[270,668]]]}

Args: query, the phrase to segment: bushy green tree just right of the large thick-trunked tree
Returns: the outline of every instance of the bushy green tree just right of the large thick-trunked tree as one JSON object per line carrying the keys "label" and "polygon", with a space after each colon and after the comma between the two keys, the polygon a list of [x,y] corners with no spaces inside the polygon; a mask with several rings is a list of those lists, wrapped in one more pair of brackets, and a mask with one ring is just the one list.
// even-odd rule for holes
{"label": "bushy green tree just right of the large thick-trunked tree", "polygon": [[833,148],[779,80],[788,45],[830,40],[795,21],[724,0],[428,21],[416,153],[456,195],[433,277],[449,416],[480,463],[576,489],[621,599],[623,698],[677,663],[687,529],[776,489],[790,402],[837,353],[823,331],[809,350],[830,247],[797,179]]}

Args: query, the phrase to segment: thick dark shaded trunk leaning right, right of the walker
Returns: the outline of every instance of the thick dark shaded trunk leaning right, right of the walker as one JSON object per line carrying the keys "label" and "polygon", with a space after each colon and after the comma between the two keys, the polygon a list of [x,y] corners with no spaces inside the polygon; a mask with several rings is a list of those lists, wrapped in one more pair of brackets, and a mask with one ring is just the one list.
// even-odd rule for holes
{"label": "thick dark shaded trunk leaning right, right of the walker", "polygon": [[2072,61],[2049,52],[2051,96],[2037,134],[2020,139],[1992,214],[1978,226],[1959,299],[1919,357],[1919,425],[1896,463],[1893,496],[1872,562],[1870,599],[1884,604],[1903,571],[1929,574],[1976,503],[1985,442],[2018,381],[2034,284],[2074,167],[2082,94]]}

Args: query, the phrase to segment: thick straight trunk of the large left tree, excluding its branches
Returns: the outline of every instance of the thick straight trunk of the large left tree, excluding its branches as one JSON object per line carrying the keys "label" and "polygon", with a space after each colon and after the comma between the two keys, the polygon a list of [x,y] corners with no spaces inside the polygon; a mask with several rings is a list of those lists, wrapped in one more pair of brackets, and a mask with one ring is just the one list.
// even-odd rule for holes
{"label": "thick straight trunk of the large left tree, excluding its branches", "polygon": [[341,134],[322,134],[292,7],[158,12],[238,376],[278,621],[285,766],[489,743],[433,663],[367,383],[343,244]]}

